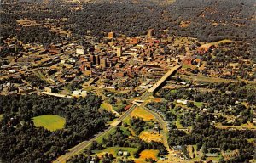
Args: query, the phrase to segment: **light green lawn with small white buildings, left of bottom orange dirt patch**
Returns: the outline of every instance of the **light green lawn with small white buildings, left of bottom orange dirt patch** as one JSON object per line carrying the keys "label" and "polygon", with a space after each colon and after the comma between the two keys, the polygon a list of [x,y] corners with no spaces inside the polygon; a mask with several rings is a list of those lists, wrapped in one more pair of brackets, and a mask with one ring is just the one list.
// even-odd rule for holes
{"label": "light green lawn with small white buildings, left of bottom orange dirt patch", "polygon": [[112,154],[113,157],[117,157],[117,156],[119,156],[119,155],[117,155],[119,150],[129,152],[130,155],[131,155],[131,158],[133,158],[133,155],[137,152],[136,148],[130,148],[130,147],[108,147],[107,149],[104,149],[104,150],[100,151],[99,153],[96,152],[96,155],[101,157],[101,155],[104,155],[104,154],[108,153],[108,154]]}

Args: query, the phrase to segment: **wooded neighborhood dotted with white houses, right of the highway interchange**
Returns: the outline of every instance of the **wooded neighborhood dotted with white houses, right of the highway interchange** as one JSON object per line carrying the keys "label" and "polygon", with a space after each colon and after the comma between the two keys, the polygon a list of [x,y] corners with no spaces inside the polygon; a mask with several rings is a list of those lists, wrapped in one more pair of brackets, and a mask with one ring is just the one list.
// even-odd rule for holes
{"label": "wooded neighborhood dotted with white houses, right of the highway interchange", "polygon": [[[200,89],[177,89],[176,91],[162,89],[159,95],[166,100],[160,103],[148,103],[147,107],[159,110],[166,121],[177,121],[179,118],[183,126],[192,126],[201,120],[240,126],[248,121],[253,123],[255,91],[253,85],[245,82],[210,83],[207,90],[204,91]],[[173,103],[177,99],[188,100],[186,108],[189,107],[193,111],[183,110],[182,106]],[[196,106],[195,103],[201,103],[201,106]],[[245,103],[250,106],[246,107]],[[203,110],[207,110],[207,113],[202,114]],[[216,113],[221,114],[216,115]],[[235,116],[235,121],[228,122],[224,115]]]}

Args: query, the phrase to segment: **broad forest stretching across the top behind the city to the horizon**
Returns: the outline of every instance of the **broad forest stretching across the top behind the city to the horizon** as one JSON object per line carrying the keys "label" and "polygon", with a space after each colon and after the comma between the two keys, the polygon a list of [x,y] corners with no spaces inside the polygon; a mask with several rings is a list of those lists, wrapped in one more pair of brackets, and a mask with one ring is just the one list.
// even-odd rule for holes
{"label": "broad forest stretching across the top behind the city to the horizon", "polygon": [[[224,38],[250,41],[255,39],[253,3],[253,0],[179,0],[174,3],[101,0],[80,4],[59,1],[3,4],[2,37],[17,36],[25,42],[42,43],[64,39],[50,34],[42,26],[24,28],[17,25],[16,20],[27,18],[41,25],[45,22],[57,23],[63,30],[72,31],[73,37],[85,34],[102,37],[108,31],[134,37],[154,28],[157,36],[167,29],[172,35],[197,37],[203,42]],[[184,22],[185,26],[182,25]],[[39,35],[36,35],[37,29],[41,31]]]}

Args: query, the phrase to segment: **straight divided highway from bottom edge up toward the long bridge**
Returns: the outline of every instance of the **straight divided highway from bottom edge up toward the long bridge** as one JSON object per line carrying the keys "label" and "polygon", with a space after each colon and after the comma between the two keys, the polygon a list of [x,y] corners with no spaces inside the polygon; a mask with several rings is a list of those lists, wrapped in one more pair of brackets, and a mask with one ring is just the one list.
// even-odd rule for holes
{"label": "straight divided highway from bottom edge up toward the long bridge", "polygon": [[[141,96],[141,100],[145,100],[148,98],[148,96],[150,95],[149,92],[143,93],[143,95]],[[121,115],[119,117],[119,119],[117,121],[124,121],[125,118],[131,114],[131,112],[137,107],[137,105],[133,104],[131,106],[131,108],[129,110],[127,110],[123,115]],[[100,138],[102,136],[104,136],[105,134],[107,134],[111,129],[113,129],[114,127],[116,127],[119,123],[116,123],[115,126],[108,126],[108,128],[100,133],[97,133],[95,135],[94,138],[91,138],[88,141],[84,141],[82,143],[79,143],[78,145],[76,145],[75,147],[73,147],[72,149],[69,149],[69,151],[65,154],[65,155],[61,155],[57,160],[53,161],[54,163],[63,163],[66,162],[69,158],[71,158],[73,155],[77,155],[80,152],[82,152],[85,148],[87,148],[90,143],[92,143],[92,141],[96,140],[96,138]]]}

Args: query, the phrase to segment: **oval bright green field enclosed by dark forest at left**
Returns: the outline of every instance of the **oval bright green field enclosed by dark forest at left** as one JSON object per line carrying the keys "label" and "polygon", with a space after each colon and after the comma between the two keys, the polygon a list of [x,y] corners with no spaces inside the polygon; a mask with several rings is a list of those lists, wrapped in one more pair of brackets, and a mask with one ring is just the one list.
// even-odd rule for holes
{"label": "oval bright green field enclosed by dark forest at left", "polygon": [[51,132],[64,128],[65,118],[58,115],[40,115],[33,118],[34,125],[43,126]]}

